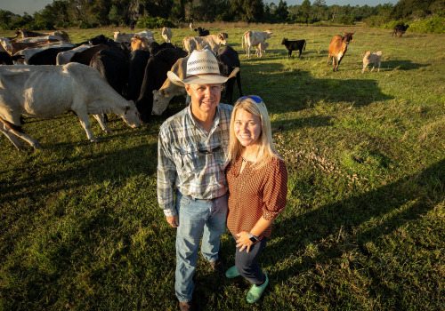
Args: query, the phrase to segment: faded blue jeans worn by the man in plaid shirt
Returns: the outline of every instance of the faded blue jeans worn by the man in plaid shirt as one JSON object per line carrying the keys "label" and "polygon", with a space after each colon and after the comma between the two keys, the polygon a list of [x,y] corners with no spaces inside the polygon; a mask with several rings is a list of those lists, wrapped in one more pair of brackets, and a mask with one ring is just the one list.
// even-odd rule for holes
{"label": "faded blue jeans worn by the man in plaid shirt", "polygon": [[227,221],[228,194],[214,201],[196,200],[176,191],[179,227],[176,232],[176,274],[174,289],[180,302],[191,300],[193,274],[198,262],[199,240],[204,259],[218,259],[221,235]]}

